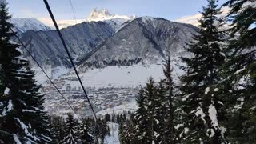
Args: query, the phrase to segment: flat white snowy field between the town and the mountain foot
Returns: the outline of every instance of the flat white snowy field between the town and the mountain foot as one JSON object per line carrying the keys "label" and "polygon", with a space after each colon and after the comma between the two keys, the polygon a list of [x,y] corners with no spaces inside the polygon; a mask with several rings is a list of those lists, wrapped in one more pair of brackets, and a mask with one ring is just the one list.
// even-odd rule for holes
{"label": "flat white snowy field between the town and the mountain foot", "polygon": [[[74,74],[61,77],[69,79]],[[163,78],[162,65],[153,64],[144,66],[107,66],[104,69],[87,70],[80,74],[84,86],[95,88],[102,87],[134,87],[144,85],[148,78],[153,77],[156,81]],[[66,80],[66,85],[79,86],[78,81]],[[64,87],[65,88],[65,87]]]}

